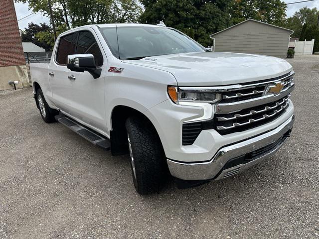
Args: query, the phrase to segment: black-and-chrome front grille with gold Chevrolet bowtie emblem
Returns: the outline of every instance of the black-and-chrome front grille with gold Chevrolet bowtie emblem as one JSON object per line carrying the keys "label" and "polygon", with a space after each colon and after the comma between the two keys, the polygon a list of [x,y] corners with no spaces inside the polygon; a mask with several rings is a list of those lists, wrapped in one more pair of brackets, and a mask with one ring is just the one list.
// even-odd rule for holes
{"label": "black-and-chrome front grille with gold Chevrolet bowtie emblem", "polygon": [[[289,106],[294,90],[292,71],[284,76],[248,85],[228,86],[216,105],[214,129],[220,134],[244,131],[281,116]],[[278,87],[279,93],[267,93]]]}

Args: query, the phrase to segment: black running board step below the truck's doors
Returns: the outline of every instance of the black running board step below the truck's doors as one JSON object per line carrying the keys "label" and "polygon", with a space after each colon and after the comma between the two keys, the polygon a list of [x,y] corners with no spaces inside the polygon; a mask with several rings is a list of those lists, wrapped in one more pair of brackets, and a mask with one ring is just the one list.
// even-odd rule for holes
{"label": "black running board step below the truck's doors", "polygon": [[94,145],[97,145],[105,150],[111,149],[110,139],[106,138],[105,136],[102,136],[101,134],[96,133],[92,129],[82,126],[74,119],[70,119],[69,117],[62,114],[55,116],[55,119],[56,121],[64,124],[72,131],[76,132],[77,134],[85,138],[86,140],[90,141]]}

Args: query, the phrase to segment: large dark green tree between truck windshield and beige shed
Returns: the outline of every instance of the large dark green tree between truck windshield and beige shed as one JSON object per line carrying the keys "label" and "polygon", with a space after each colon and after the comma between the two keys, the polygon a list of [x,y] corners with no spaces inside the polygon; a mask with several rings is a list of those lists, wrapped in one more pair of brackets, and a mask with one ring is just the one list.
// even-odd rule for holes
{"label": "large dark green tree between truck windshield and beige shed", "polygon": [[194,38],[204,46],[212,44],[209,35],[230,26],[231,0],[142,0],[142,23],[160,20]]}

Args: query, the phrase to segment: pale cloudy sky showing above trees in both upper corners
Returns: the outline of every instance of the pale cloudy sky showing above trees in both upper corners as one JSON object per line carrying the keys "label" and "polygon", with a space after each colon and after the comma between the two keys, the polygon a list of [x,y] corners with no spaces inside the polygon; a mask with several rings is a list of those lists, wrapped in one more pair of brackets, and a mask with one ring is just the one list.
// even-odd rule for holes
{"label": "pale cloudy sky showing above trees in both upper corners", "polygon": [[[302,1],[302,0],[284,0],[284,1],[286,3],[289,3],[289,2]],[[32,13],[32,10],[28,9],[27,3],[15,2],[14,6],[15,6],[16,17],[18,20]],[[319,9],[319,0],[290,4],[288,5],[288,8],[287,8],[287,16],[292,16],[298,9],[304,6],[307,6],[309,8],[317,7]],[[36,12],[18,21],[19,29],[24,29],[25,27],[28,26],[28,23],[31,23],[31,22],[37,23],[37,24],[45,22],[49,24],[49,19],[43,16],[42,13]]]}

